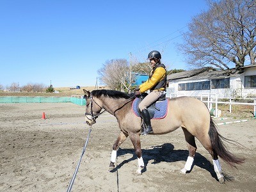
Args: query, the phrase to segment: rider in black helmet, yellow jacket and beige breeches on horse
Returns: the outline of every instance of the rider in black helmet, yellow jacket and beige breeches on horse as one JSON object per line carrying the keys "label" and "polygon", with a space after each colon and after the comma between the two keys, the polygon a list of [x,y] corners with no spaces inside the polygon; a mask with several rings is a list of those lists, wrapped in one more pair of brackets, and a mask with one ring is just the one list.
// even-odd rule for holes
{"label": "rider in black helmet, yellow jacket and beige breeches on horse", "polygon": [[151,63],[150,76],[145,83],[141,84],[135,88],[135,94],[140,95],[141,93],[147,92],[150,90],[150,93],[140,102],[139,109],[141,111],[141,116],[146,124],[146,128],[141,129],[141,134],[146,135],[150,132],[153,132],[150,115],[148,113],[147,107],[152,103],[156,102],[159,97],[164,94],[166,86],[166,68],[164,64],[161,63],[161,54],[159,51],[151,51],[148,53],[147,58]]}

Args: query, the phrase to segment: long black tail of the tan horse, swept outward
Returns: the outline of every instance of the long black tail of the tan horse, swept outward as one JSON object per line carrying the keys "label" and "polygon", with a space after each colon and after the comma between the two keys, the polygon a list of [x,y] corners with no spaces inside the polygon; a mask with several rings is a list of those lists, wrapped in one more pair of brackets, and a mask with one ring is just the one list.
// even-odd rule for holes
{"label": "long black tail of the tan horse, swept outward", "polygon": [[[211,143],[212,143],[212,150],[218,154],[218,156],[223,159],[227,164],[230,164],[230,166],[234,166],[236,168],[236,164],[244,163],[244,158],[239,158],[234,156],[234,154],[230,153],[227,148],[225,147],[223,141],[227,141],[228,143],[237,143],[236,141],[228,140],[227,138],[224,138],[221,136],[221,134],[218,132],[216,125],[212,121],[212,118],[210,120],[210,129],[208,132]],[[239,144],[239,143],[237,143]]]}

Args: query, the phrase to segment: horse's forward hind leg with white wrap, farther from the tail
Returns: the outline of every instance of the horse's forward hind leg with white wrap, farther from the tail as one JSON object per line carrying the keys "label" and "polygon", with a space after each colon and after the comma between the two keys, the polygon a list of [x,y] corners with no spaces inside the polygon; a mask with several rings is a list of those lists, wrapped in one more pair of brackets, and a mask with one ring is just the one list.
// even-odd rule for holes
{"label": "horse's forward hind leg with white wrap, farther from the tail", "polygon": [[184,132],[185,139],[186,139],[186,142],[188,145],[189,156],[188,156],[188,159],[186,161],[184,168],[182,170],[180,170],[180,172],[186,174],[186,172],[189,172],[191,170],[191,167],[192,167],[192,164],[194,161],[194,157],[195,157],[195,153],[196,153],[196,142],[195,142],[195,136],[193,136],[190,132],[188,132],[187,129],[182,127],[182,130]]}

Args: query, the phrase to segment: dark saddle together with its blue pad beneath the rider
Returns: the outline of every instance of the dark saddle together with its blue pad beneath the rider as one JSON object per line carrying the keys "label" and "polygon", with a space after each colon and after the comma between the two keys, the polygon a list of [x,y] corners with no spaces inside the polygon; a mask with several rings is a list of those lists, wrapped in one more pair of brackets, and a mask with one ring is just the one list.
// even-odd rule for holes
{"label": "dark saddle together with its blue pad beneath the rider", "polygon": [[[136,98],[132,102],[133,113],[140,117],[139,104],[147,96],[147,93],[141,94],[139,98]],[[167,115],[169,100],[166,99],[166,94],[162,95],[156,102],[148,106],[147,110],[151,119],[161,119]]]}

